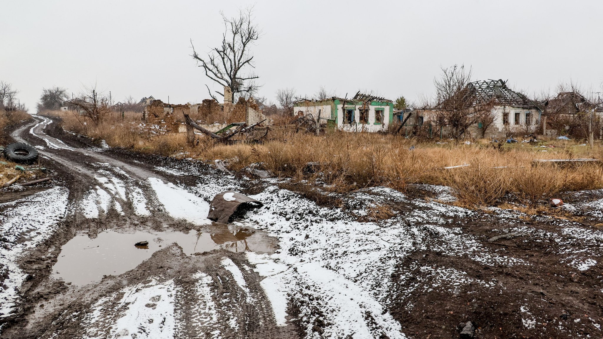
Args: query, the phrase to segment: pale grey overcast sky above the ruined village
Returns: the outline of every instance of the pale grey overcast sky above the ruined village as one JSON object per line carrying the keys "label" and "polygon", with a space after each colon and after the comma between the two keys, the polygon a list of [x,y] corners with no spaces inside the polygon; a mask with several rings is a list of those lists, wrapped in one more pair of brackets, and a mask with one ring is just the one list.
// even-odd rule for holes
{"label": "pale grey overcast sky above the ruined village", "polygon": [[[248,1],[4,1],[0,80],[34,110],[43,87],[96,83],[115,101],[153,95],[209,98],[189,56],[221,39]],[[472,66],[475,80],[528,92],[572,78],[602,91],[603,1],[257,1],[264,35],[253,46],[260,96],[281,87],[339,96],[432,95],[440,65]],[[214,89],[219,89],[215,86]]]}

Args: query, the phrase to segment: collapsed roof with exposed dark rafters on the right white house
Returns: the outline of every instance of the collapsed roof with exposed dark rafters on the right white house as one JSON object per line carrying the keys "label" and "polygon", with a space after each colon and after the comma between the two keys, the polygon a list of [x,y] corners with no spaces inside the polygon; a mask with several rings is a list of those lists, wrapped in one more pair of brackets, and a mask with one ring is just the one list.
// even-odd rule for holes
{"label": "collapsed roof with exposed dark rafters on the right white house", "polygon": [[502,79],[473,81],[467,84],[467,90],[467,95],[475,97],[474,104],[485,104],[494,100],[494,103],[503,106],[537,108],[534,101],[507,87],[507,81]]}

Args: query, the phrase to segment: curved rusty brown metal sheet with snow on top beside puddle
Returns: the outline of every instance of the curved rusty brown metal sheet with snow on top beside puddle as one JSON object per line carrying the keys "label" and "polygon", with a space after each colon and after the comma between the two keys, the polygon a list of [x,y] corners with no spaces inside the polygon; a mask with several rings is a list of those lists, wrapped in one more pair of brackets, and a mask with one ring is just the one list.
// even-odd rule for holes
{"label": "curved rusty brown metal sheet with snow on top beside puddle", "polygon": [[209,205],[209,220],[218,223],[227,224],[230,218],[235,214],[242,214],[249,209],[260,208],[264,206],[259,200],[247,197],[236,191],[226,191],[216,194],[212,203]]}

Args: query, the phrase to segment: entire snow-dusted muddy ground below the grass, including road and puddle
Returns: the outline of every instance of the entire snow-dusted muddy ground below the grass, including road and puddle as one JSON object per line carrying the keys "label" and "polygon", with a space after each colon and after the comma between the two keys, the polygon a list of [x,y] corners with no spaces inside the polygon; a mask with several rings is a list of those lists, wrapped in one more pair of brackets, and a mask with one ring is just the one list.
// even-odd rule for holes
{"label": "entire snow-dusted muddy ground below the grass, including road and puddle", "polygon": [[[280,179],[98,147],[34,119],[12,137],[54,180],[2,192],[2,338],[458,338],[466,322],[476,338],[603,335],[603,192],[564,199],[582,224],[450,206],[427,185],[329,209]],[[227,189],[264,207],[212,224],[208,201]],[[362,221],[379,204],[395,216]]]}

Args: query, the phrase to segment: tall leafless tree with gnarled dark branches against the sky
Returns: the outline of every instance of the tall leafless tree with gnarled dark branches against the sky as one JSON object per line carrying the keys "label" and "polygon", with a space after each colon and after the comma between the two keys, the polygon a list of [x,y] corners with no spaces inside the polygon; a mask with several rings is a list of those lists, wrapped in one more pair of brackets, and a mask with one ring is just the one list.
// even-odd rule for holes
{"label": "tall leafless tree with gnarled dark branches against the sky", "polygon": [[[222,44],[212,48],[207,57],[201,56],[195,51],[192,44],[192,57],[197,60],[197,65],[203,67],[205,75],[212,81],[224,87],[230,87],[233,102],[236,93],[255,93],[259,85],[255,80],[258,75],[250,72],[242,75],[244,69],[255,68],[253,55],[249,48],[257,39],[260,38],[261,31],[257,25],[253,24],[253,7],[245,10],[239,10],[238,17],[227,18],[220,12],[224,20],[224,33],[222,34]],[[207,86],[207,85],[206,85]],[[209,90],[209,95],[217,101],[216,97]],[[224,96],[224,93],[216,91]]]}

